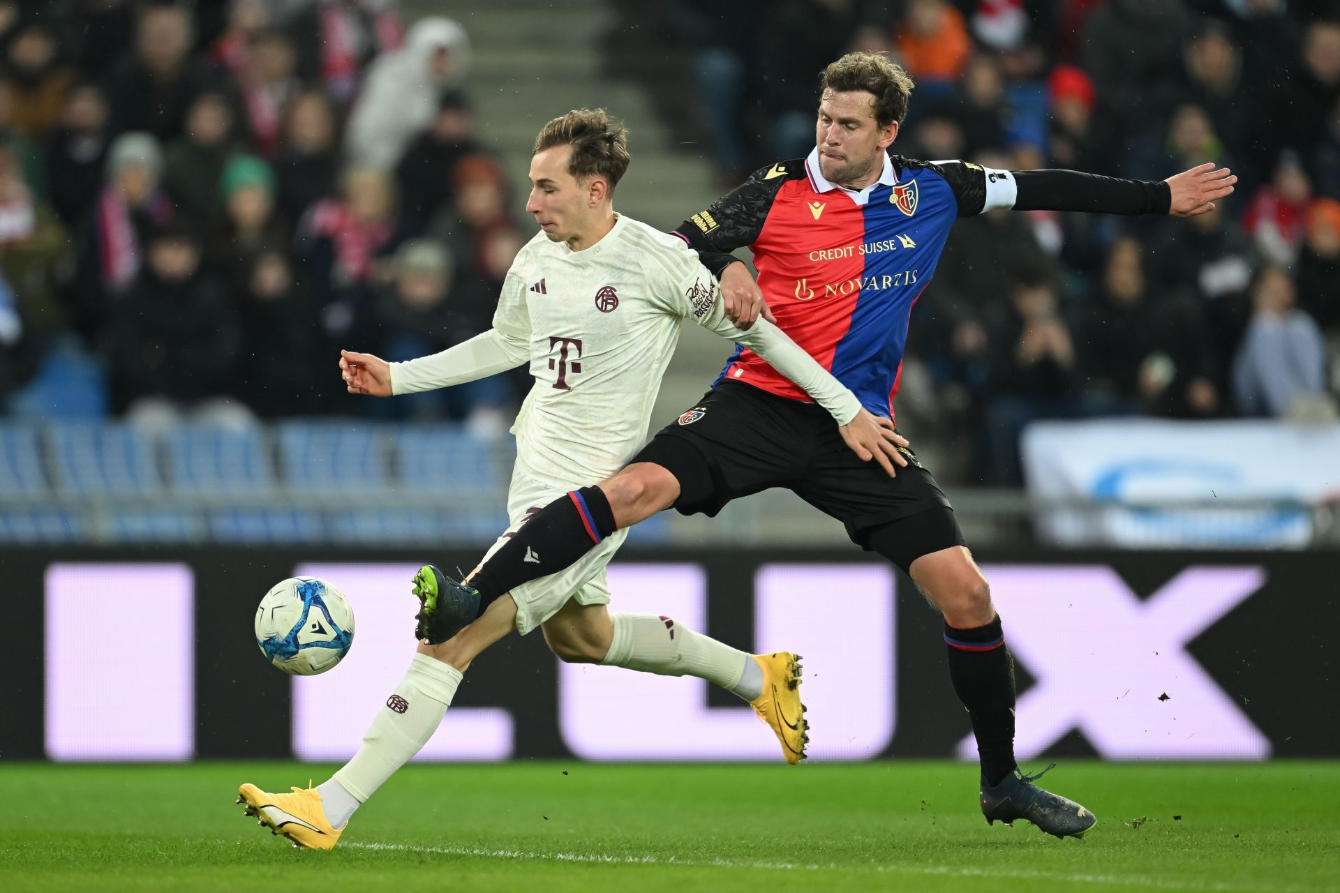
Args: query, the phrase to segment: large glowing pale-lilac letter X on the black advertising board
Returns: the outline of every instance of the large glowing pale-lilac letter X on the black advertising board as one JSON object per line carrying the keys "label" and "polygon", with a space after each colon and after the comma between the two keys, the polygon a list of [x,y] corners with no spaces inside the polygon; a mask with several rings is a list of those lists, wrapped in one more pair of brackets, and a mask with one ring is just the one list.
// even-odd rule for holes
{"label": "large glowing pale-lilac letter X on the black advertising board", "polygon": [[[1264,759],[1270,742],[1186,652],[1265,582],[1262,568],[1187,568],[1140,600],[1111,568],[985,565],[1005,641],[1037,684],[1020,758],[1077,728],[1108,759]],[[1159,700],[1162,695],[1166,700]],[[969,735],[958,746],[977,755]]]}

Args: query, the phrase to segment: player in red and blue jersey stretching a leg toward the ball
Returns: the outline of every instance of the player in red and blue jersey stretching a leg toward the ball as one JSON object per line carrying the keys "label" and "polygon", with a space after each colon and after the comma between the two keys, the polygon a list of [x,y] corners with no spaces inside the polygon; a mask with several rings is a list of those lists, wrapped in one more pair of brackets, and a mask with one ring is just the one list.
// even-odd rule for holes
{"label": "player in red and blue jersey stretching a leg toward the ball", "polygon": [[[890,157],[911,86],[880,55],[832,63],[809,157],[769,165],[675,230],[721,277],[737,324],[760,312],[775,317],[882,418],[894,415],[909,316],[958,217],[994,208],[1187,217],[1210,210],[1237,179],[1214,165],[1143,182]],[[724,254],[742,246],[753,250],[757,285]],[[460,628],[473,616],[448,611],[482,611],[663,509],[714,515],[732,499],[788,487],[843,521],[854,542],[898,565],[943,613],[950,679],[981,756],[986,819],[1022,818],[1057,837],[1081,835],[1093,814],[1043,790],[1016,764],[1014,672],[1001,619],[949,501],[903,443],[895,463],[882,453],[872,457],[878,463],[863,462],[821,407],[737,348],[698,404],[618,475],[549,503],[469,584],[448,581],[458,589],[441,605],[454,608],[426,604],[427,628]]]}

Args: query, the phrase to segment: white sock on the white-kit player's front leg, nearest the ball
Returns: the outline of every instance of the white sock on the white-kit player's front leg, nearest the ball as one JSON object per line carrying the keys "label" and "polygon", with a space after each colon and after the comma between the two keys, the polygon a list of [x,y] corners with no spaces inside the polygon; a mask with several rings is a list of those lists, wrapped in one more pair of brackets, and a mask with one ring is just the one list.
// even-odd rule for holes
{"label": "white sock on the white-kit player's front leg, nearest the ball", "polygon": [[[461,671],[427,655],[414,655],[409,672],[395,687],[363,735],[363,746],[328,782],[318,787],[332,827],[348,821],[395,770],[403,766],[442,724],[442,716],[461,684]],[[334,787],[340,787],[340,795]],[[327,799],[327,791],[331,793]]]}

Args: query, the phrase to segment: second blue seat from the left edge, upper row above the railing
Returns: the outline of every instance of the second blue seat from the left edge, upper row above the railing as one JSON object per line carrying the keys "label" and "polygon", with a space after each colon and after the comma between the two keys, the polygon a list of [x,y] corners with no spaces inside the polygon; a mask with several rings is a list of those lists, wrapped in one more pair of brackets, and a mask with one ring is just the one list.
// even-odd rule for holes
{"label": "second blue seat from the left edge, upper row above the railing", "polygon": [[121,423],[66,422],[50,428],[56,491],[129,497],[162,491],[153,442]]}

